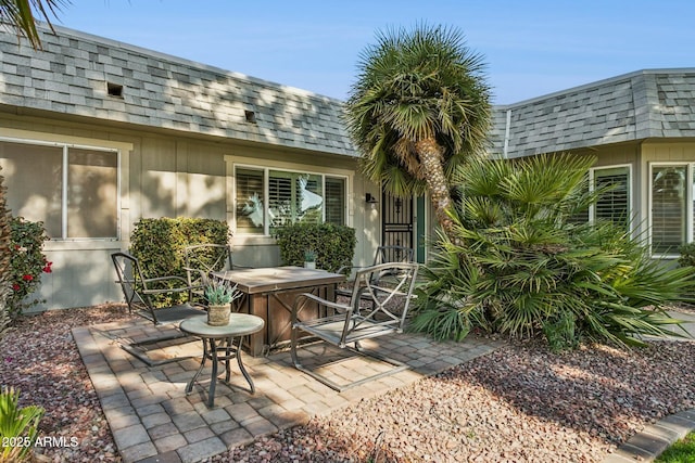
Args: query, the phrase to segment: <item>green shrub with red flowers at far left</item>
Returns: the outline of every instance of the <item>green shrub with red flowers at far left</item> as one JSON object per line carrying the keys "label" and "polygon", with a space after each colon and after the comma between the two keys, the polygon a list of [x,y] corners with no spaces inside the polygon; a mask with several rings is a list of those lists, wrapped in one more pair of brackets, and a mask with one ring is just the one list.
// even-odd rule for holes
{"label": "green shrub with red flowers at far left", "polygon": [[41,273],[51,273],[53,262],[43,255],[43,242],[48,240],[42,222],[31,222],[23,217],[10,221],[12,244],[10,257],[12,293],[8,298],[11,318],[41,303],[27,299],[41,284]]}

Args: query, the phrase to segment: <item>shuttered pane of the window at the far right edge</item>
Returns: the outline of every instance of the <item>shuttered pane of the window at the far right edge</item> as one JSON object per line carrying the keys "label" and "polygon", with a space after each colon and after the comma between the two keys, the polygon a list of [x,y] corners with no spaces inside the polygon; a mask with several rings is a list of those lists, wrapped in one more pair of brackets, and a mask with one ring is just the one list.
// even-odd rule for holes
{"label": "shuttered pane of the window at the far right edge", "polygon": [[652,252],[677,253],[685,243],[685,166],[652,169]]}

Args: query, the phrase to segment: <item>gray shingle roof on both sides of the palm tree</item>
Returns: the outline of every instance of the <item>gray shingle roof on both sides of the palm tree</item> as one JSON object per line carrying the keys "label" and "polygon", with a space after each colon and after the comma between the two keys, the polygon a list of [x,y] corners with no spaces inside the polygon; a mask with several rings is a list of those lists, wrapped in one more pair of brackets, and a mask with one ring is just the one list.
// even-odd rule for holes
{"label": "gray shingle roof on both sides of the palm tree", "polygon": [[[43,51],[0,31],[0,104],[357,156],[339,100],[59,27]],[[123,86],[109,95],[106,82]],[[256,123],[245,112],[255,113]],[[695,68],[640,70],[493,107],[506,157],[695,137]]]}

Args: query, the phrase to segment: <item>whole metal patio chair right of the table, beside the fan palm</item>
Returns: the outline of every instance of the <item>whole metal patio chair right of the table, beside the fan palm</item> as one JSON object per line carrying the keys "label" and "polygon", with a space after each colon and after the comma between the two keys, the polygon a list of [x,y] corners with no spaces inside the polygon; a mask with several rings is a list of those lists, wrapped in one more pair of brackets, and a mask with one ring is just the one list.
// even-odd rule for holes
{"label": "whole metal patio chair right of the table, beside the fan palm", "polygon": [[[356,273],[348,304],[326,300],[309,293],[299,295],[292,309],[290,348],[294,366],[339,391],[406,369],[407,366],[402,362],[383,357],[379,352],[361,349],[359,342],[403,332],[408,306],[413,299],[417,271],[418,265],[414,262],[388,262],[362,269]],[[393,284],[380,285],[383,274],[389,274]],[[318,304],[319,313],[326,313],[326,317],[302,321],[301,311],[307,303]],[[300,331],[340,349],[375,357],[390,363],[393,368],[340,385],[319,374],[315,371],[316,369],[312,370],[302,364],[298,352]]]}

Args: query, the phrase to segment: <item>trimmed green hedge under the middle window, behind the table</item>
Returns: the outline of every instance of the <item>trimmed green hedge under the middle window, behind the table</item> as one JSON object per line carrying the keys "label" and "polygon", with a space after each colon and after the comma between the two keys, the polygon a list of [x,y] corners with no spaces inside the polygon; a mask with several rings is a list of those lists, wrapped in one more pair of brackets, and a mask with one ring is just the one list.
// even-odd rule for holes
{"label": "trimmed green hedge under the middle window, behind the table", "polygon": [[276,236],[286,266],[302,266],[308,250],[317,268],[331,272],[351,265],[357,243],[354,229],[332,223],[294,223],[278,229]]}

